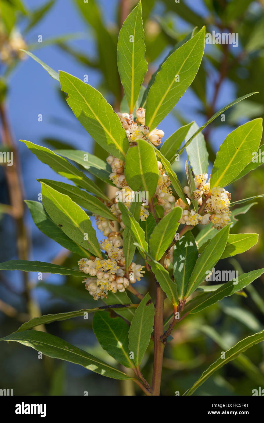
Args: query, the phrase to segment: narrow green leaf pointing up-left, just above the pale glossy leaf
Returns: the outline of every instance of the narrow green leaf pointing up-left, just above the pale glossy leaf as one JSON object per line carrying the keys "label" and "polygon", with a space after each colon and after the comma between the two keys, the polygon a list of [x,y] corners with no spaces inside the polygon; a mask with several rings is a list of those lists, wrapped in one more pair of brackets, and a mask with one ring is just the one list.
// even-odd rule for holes
{"label": "narrow green leaf pointing up-left, just above the pale glossy leaf", "polygon": [[35,154],[42,163],[50,166],[50,168],[56,173],[74,182],[78,187],[84,188],[85,190],[98,195],[98,197],[109,201],[109,198],[100,190],[100,188],[97,187],[94,181],[87,178],[81,170],[75,168],[75,166],[71,165],[66,159],[53,153],[53,151],[49,148],[37,146],[30,141],[20,141],[25,143],[30,151],[32,151],[32,153]]}

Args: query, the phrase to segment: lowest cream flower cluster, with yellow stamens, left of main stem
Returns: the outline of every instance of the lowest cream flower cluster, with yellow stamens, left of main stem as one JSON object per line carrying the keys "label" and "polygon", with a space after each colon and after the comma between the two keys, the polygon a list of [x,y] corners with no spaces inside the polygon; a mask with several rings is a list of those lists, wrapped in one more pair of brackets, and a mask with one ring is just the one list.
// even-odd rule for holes
{"label": "lowest cream flower cluster, with yellow stamens, left of main stem", "polygon": [[[129,280],[125,275],[125,258],[121,248],[122,237],[118,232],[111,232],[108,239],[101,241],[101,250],[105,250],[108,259],[99,257],[81,258],[78,261],[81,272],[89,275],[83,280],[89,294],[95,300],[106,298],[108,291],[114,294],[125,291],[129,283],[135,283],[143,276],[143,266],[131,263],[129,267]],[[95,278],[96,277],[96,278]]]}

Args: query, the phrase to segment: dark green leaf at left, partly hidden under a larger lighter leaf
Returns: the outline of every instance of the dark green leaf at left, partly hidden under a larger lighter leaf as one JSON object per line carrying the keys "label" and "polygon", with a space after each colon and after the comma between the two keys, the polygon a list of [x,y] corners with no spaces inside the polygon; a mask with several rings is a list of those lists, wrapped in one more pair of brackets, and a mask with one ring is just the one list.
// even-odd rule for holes
{"label": "dark green leaf at left, partly hidden under a larger lighter leaf", "polygon": [[80,257],[87,253],[84,248],[80,247],[75,241],[72,241],[72,239],[65,235],[61,228],[50,219],[40,201],[25,200],[25,203],[31,212],[35,225],[42,233],[58,242],[62,247],[72,251],[72,253],[80,255]]}

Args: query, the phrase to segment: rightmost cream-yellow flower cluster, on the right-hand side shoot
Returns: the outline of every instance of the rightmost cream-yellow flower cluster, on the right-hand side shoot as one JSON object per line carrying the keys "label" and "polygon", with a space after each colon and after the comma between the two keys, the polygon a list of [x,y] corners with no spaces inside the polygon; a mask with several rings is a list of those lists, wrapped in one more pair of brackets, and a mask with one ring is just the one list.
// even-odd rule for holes
{"label": "rightmost cream-yellow flower cluster, on the right-hand side shoot", "polygon": [[[205,199],[210,193],[210,179],[206,182],[207,179],[207,173],[202,173],[194,178],[196,189],[192,192],[192,195],[194,200],[198,202],[199,206],[203,203],[203,199]],[[183,192],[187,195],[187,201],[190,205],[191,202],[189,199],[191,198],[191,195],[189,187],[184,187]],[[196,213],[195,210],[188,210],[183,203],[183,214],[179,222],[192,226],[198,225],[199,223],[207,225],[209,222],[212,222],[214,228],[221,229],[231,222],[231,211],[229,210],[230,200],[230,192],[221,187],[214,187],[211,190],[210,197],[206,200],[206,213],[200,215],[199,213]]]}

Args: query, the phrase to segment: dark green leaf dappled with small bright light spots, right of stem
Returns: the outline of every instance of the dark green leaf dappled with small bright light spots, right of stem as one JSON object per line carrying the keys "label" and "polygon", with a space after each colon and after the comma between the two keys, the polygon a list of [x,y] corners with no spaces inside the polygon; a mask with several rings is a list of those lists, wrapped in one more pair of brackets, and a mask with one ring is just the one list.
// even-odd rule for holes
{"label": "dark green leaf dappled with small bright light spots, right of stem", "polygon": [[195,238],[191,231],[186,232],[175,244],[173,250],[173,275],[182,301],[186,294],[192,271],[198,258]]}

